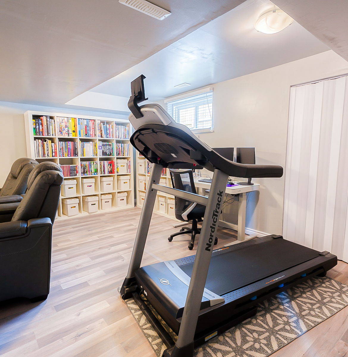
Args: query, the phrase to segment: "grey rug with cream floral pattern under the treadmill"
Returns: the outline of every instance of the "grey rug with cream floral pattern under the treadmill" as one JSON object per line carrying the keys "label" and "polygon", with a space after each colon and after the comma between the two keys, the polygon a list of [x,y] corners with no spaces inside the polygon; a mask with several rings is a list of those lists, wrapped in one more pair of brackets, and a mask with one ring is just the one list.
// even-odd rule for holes
{"label": "grey rug with cream floral pattern under the treadmill", "polygon": [[[162,356],[166,347],[156,331],[133,299],[126,304],[155,354]],[[196,348],[195,357],[267,357],[347,305],[348,286],[312,278],[260,303],[256,316]]]}

